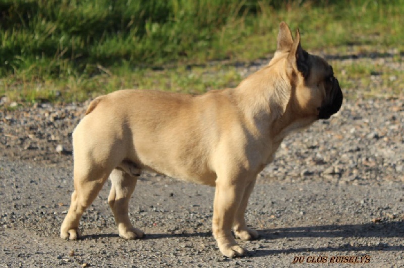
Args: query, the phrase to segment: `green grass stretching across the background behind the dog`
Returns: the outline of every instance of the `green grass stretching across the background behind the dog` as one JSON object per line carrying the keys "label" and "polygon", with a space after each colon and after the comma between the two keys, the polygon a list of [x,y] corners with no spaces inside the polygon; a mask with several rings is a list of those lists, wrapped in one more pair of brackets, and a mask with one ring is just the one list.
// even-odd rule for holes
{"label": "green grass stretching across the background behind the dog", "polygon": [[[0,96],[69,102],[122,88],[201,93],[237,85],[231,63],[272,53],[280,21],[300,28],[308,50],[403,51],[402,14],[404,0],[0,0]],[[369,66],[344,68],[355,76],[346,79],[350,88],[369,77]],[[381,77],[388,88],[401,81]]]}

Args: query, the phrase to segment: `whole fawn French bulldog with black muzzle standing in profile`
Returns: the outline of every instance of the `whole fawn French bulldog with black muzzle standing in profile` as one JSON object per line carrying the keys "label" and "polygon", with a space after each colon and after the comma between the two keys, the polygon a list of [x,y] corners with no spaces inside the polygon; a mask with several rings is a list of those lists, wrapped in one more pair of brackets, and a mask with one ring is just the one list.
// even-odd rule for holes
{"label": "whole fawn French bulldog with black muzzle standing in profile", "polygon": [[216,187],[213,236],[227,257],[242,256],[232,235],[258,237],[244,212],[257,175],[292,131],[328,119],[342,104],[331,66],[301,48],[286,23],[273,59],[236,88],[191,96],[119,90],[95,98],[73,132],[74,192],[60,236],[79,238],[79,221],[108,178],[108,198],[125,239],[143,237],[128,217],[142,170]]}

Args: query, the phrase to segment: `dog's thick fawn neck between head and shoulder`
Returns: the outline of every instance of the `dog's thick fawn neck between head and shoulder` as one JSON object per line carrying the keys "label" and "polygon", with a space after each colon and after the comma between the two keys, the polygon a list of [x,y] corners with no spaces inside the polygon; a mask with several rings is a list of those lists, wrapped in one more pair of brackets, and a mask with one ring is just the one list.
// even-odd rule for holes
{"label": "dog's thick fawn neck between head and shoulder", "polygon": [[[280,63],[281,64],[281,63]],[[267,66],[244,79],[232,92],[257,134],[281,142],[290,132],[308,127],[316,118],[297,118],[292,111],[293,89],[283,68]]]}

